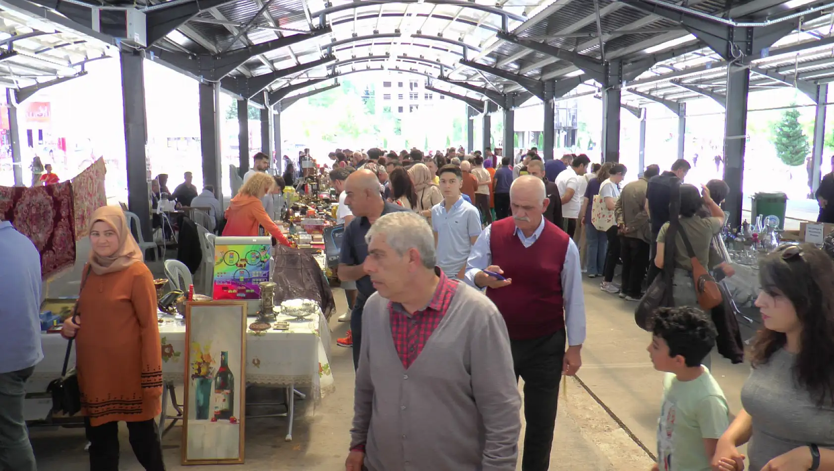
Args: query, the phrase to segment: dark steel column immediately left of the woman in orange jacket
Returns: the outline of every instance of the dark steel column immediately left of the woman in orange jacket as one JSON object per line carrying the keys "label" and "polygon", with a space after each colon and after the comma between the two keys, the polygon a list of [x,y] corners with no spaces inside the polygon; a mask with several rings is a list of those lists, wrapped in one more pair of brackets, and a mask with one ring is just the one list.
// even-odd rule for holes
{"label": "dark steel column immediately left of the woman in orange jacket", "polygon": [[[220,168],[219,126],[217,116],[217,99],[219,85],[200,83],[199,119],[200,151],[203,154],[203,185],[214,187],[214,196],[223,203],[222,169]],[[215,96],[217,95],[217,96]]]}

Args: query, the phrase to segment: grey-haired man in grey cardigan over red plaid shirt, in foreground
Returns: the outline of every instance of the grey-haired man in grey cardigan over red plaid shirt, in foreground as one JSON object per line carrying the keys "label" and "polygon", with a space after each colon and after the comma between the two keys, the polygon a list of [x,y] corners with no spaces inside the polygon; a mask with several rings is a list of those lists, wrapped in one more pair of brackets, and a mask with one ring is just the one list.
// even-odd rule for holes
{"label": "grey-haired man in grey cardigan over red plaid shirt, in foreground", "polygon": [[515,471],[520,395],[495,305],[435,267],[416,213],[365,236],[364,307],[347,471]]}

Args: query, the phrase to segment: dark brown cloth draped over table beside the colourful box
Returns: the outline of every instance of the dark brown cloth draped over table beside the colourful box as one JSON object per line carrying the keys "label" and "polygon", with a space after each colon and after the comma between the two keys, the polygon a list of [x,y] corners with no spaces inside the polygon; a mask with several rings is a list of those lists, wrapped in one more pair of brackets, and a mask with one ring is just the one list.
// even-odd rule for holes
{"label": "dark brown cloth draped over table beside the colourful box", "polygon": [[321,306],[324,317],[336,308],[333,292],[315,258],[299,248],[274,246],[275,256],[269,279],[276,283],[274,303],[278,306],[287,299],[312,299]]}

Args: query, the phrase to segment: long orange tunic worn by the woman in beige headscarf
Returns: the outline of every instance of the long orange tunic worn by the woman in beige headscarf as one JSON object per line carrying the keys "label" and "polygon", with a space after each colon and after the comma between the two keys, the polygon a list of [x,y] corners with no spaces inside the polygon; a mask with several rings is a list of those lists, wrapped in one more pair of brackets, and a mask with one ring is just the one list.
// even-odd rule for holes
{"label": "long orange tunic worn by the woman in beige headscarf", "polygon": [[[84,273],[87,268],[84,268]],[[91,272],[78,299],[76,368],[93,427],[141,422],[161,411],[162,345],[153,275],[144,263]]]}

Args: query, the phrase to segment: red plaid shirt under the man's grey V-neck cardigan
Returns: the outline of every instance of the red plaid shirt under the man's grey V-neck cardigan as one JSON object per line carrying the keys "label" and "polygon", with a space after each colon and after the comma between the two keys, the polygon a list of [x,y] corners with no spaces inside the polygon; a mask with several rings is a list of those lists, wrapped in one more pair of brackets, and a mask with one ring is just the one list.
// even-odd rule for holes
{"label": "red plaid shirt under the man's grey V-neck cardigan", "polygon": [[394,348],[397,349],[404,368],[409,368],[423,351],[425,343],[440,325],[458,289],[457,281],[447,278],[442,271],[437,271],[440,272],[440,282],[437,283],[435,296],[422,310],[409,315],[402,304],[388,303]]}

